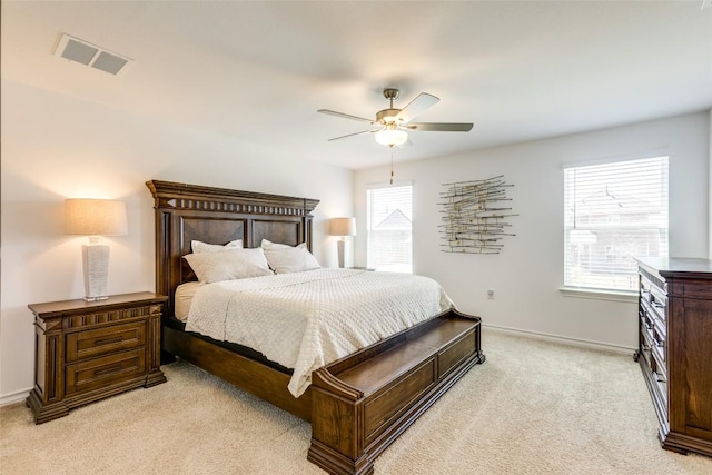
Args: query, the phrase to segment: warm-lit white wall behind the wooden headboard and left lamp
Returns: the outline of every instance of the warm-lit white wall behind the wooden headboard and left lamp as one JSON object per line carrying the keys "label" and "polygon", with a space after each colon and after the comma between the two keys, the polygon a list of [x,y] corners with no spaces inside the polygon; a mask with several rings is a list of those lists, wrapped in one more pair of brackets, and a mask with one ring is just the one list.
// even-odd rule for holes
{"label": "warm-lit white wall behind the wooden headboard and left lamp", "polygon": [[353,214],[350,170],[7,80],[1,119],[0,404],[32,386],[27,305],[83,295],[85,238],[62,234],[65,198],[127,202],[129,235],[109,239],[110,294],[155,289],[149,179],[320,199],[314,254],[336,266],[327,218]]}

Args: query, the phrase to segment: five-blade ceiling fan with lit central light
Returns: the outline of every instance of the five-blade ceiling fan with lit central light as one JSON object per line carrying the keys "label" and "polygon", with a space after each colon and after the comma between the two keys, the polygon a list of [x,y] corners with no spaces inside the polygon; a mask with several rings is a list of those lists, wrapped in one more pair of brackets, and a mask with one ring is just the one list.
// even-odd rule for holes
{"label": "five-blade ceiling fan with lit central light", "polygon": [[378,127],[376,129],[362,130],[360,132],[335,137],[329,139],[329,141],[342,140],[362,133],[375,133],[378,144],[394,147],[405,144],[408,140],[409,131],[467,132],[472,130],[472,123],[412,122],[413,119],[434,106],[439,99],[433,95],[421,92],[403,109],[396,109],[393,107],[393,101],[398,98],[399,93],[400,91],[398,91],[398,89],[387,88],[383,90],[383,96],[390,102],[390,106],[388,109],[376,112],[375,120],[336,112],[334,110],[319,109],[317,112],[343,117],[344,119],[358,120],[359,122]]}

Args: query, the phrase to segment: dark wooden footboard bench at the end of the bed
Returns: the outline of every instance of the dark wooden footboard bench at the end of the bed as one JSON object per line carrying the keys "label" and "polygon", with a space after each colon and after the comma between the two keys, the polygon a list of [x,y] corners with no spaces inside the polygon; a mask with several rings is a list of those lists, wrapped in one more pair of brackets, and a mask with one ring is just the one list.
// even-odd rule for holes
{"label": "dark wooden footboard bench at the end of the bed", "polygon": [[373,462],[485,356],[479,318],[451,310],[317,369],[308,459],[330,474]]}

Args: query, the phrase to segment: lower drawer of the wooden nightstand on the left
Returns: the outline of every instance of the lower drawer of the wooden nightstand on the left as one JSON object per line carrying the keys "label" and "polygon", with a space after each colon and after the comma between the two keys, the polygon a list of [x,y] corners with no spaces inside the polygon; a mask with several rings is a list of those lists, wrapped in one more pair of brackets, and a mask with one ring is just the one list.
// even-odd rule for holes
{"label": "lower drawer of the wooden nightstand on the left", "polygon": [[146,349],[123,352],[103,358],[67,365],[66,396],[101,389],[146,375]]}

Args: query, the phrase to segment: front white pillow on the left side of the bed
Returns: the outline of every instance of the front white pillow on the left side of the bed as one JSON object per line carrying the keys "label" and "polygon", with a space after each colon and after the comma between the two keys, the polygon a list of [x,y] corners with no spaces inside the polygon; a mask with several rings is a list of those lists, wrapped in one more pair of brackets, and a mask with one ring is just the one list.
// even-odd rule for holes
{"label": "front white pillow on the left side of the bed", "polygon": [[204,284],[273,275],[259,247],[192,253],[184,258]]}

